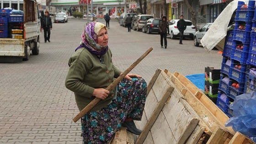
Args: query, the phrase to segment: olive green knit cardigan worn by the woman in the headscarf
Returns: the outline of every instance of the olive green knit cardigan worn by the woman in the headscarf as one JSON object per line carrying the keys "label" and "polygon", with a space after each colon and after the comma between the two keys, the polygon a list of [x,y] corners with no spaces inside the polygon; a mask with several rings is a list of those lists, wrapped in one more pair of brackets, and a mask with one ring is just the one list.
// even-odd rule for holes
{"label": "olive green knit cardigan worn by the woman in the headscarf", "polygon": [[[94,98],[95,88],[106,89],[121,71],[112,64],[112,53],[108,49],[103,55],[104,64],[101,64],[97,56],[86,48],[78,49],[69,59],[69,71],[66,76],[65,86],[75,93],[77,107],[81,111]],[[97,111],[111,103],[115,89],[112,89],[105,100],[101,100],[89,112]]]}

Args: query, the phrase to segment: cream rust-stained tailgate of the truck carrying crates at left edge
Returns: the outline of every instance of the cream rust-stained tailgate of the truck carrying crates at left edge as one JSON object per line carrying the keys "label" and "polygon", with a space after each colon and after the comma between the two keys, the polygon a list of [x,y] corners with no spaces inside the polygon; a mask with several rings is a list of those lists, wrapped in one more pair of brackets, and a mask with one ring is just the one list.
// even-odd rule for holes
{"label": "cream rust-stained tailgate of the truck carrying crates at left edge", "polygon": [[0,38],[0,56],[24,57],[24,39]]}

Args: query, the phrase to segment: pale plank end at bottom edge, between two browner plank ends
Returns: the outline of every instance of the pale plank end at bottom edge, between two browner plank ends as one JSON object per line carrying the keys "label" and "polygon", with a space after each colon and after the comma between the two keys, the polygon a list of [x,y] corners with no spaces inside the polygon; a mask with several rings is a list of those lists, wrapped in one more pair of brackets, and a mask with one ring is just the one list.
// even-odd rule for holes
{"label": "pale plank end at bottom edge, between two browner plank ends", "polygon": [[187,139],[186,144],[197,144],[198,140],[201,138],[203,132],[204,132],[204,127],[199,126],[197,124],[197,127],[194,129],[190,137]]}

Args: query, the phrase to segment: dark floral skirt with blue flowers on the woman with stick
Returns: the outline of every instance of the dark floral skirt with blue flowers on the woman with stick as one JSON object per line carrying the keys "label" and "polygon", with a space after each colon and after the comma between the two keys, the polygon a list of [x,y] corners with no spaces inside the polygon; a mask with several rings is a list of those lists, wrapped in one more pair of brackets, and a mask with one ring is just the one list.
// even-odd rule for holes
{"label": "dark floral skirt with blue flowers on the woman with stick", "polygon": [[111,104],[81,118],[83,144],[108,144],[126,117],[141,120],[146,94],[147,84],[142,78],[119,82]]}

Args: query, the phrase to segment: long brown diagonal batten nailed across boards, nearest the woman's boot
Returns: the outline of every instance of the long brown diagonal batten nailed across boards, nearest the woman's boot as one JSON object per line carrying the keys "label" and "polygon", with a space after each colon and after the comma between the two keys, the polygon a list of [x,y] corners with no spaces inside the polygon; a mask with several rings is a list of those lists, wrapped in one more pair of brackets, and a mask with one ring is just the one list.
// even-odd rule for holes
{"label": "long brown diagonal batten nailed across boards, nearest the woman's boot", "polygon": [[171,96],[173,89],[174,88],[171,86],[168,87],[167,91],[165,92],[165,95],[162,97],[161,101],[158,103],[157,107],[155,108],[155,111],[153,112],[152,116],[149,118],[148,123],[146,124],[142,133],[139,135],[139,138],[137,139],[136,144],[142,144],[144,142],[144,140],[146,139],[146,136],[149,133],[149,130],[152,128],[152,126],[155,123],[155,120],[157,119],[163,107],[165,106],[165,102],[168,100],[168,97]]}

